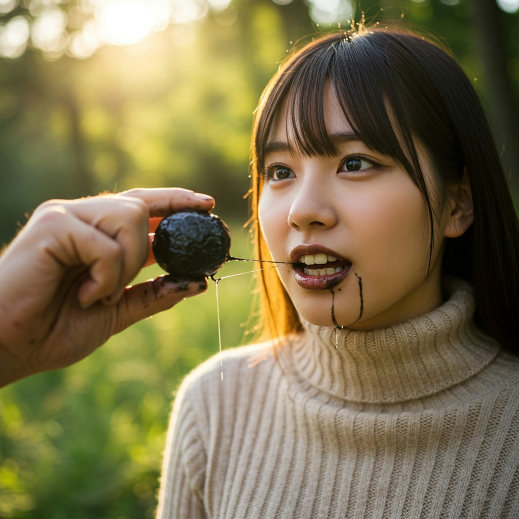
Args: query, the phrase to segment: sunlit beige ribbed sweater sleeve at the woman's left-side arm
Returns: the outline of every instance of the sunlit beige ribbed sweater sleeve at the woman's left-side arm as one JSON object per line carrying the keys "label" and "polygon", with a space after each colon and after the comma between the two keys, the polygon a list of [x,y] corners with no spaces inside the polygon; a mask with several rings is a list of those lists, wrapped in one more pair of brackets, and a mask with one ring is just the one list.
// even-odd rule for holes
{"label": "sunlit beige ribbed sweater sleeve at the woman's left-side arm", "polygon": [[162,462],[157,519],[203,519],[207,455],[187,380],[175,398]]}

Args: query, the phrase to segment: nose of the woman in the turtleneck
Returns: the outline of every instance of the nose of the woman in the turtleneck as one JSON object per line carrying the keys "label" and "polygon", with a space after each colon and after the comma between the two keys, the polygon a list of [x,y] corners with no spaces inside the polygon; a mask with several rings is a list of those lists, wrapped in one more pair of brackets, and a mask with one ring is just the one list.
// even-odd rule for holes
{"label": "nose of the woman in the turtleneck", "polygon": [[337,213],[330,189],[322,181],[303,181],[292,200],[288,224],[294,229],[308,229],[333,227],[336,223]]}

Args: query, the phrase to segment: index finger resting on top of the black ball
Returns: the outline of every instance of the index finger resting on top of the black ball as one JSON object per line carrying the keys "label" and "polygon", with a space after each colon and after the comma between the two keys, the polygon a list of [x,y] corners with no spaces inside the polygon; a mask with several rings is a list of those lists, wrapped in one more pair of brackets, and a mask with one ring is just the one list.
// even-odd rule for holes
{"label": "index finger resting on top of the black ball", "polygon": [[182,209],[211,211],[214,207],[213,197],[181,187],[130,189],[120,195],[143,200],[151,217],[167,216]]}

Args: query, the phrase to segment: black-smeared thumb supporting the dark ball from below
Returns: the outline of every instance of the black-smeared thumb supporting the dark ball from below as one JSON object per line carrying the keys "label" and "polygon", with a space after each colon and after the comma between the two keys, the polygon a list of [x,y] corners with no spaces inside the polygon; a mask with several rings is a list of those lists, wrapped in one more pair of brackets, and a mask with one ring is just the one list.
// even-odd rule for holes
{"label": "black-smeared thumb supporting the dark ball from below", "polygon": [[207,290],[207,280],[179,281],[160,276],[128,287],[117,303],[118,333],[131,324],[171,308],[186,297]]}

